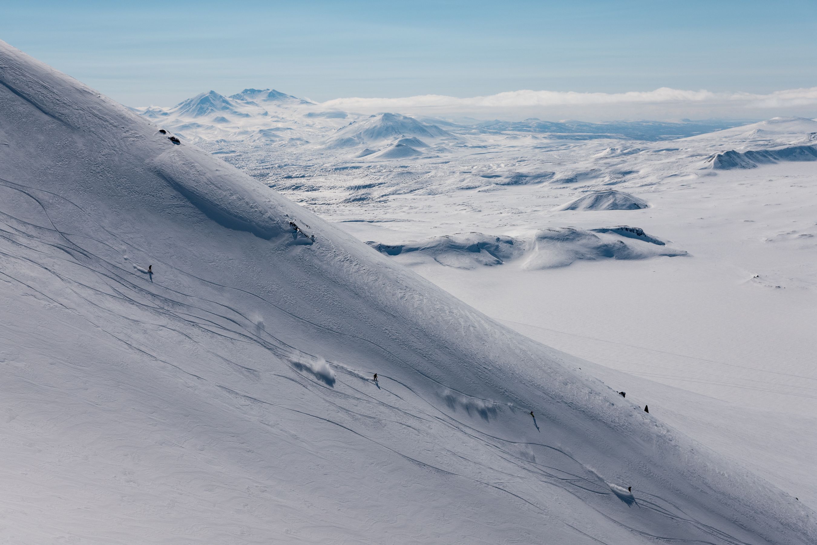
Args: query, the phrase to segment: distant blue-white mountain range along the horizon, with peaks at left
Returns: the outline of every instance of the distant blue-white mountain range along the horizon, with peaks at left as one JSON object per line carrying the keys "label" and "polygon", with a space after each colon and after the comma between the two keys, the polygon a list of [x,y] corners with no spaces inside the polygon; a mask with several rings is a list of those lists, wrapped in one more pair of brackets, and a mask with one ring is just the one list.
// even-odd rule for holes
{"label": "distant blue-white mountain range along the horizon, with peaks at left", "polygon": [[[528,118],[523,121],[441,120],[414,118],[384,112],[368,116],[306,101],[275,89],[244,89],[224,96],[215,91],[203,92],[171,108],[135,109],[145,117],[163,119],[169,127],[193,140],[255,141],[263,131],[269,141],[270,129],[282,130],[282,124],[294,131],[294,142],[323,142],[330,147],[395,143],[400,138],[436,139],[464,133],[535,134],[556,140],[636,140],[663,141],[696,136],[738,127],[749,121],[616,121],[590,123],[572,119],[544,121]],[[195,124],[190,121],[195,120]],[[351,123],[350,127],[346,127]],[[440,128],[446,127],[446,129]],[[333,134],[334,132],[334,134]],[[272,140],[287,140],[283,136]],[[425,142],[423,142],[425,143]],[[411,145],[403,142],[404,145]],[[417,147],[413,146],[412,147]],[[422,147],[422,144],[420,145]]]}

